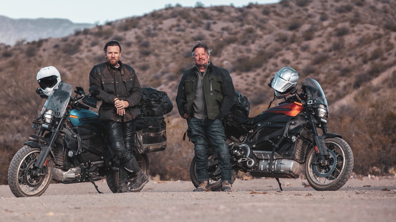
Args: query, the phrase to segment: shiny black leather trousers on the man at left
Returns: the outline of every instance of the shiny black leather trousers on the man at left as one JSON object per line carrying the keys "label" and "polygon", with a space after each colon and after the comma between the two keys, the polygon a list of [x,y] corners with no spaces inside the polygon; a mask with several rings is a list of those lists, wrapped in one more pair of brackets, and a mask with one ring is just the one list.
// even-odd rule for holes
{"label": "shiny black leather trousers on the man at left", "polygon": [[121,164],[133,158],[133,137],[135,135],[135,120],[128,122],[105,122],[109,134],[112,150],[116,153]]}

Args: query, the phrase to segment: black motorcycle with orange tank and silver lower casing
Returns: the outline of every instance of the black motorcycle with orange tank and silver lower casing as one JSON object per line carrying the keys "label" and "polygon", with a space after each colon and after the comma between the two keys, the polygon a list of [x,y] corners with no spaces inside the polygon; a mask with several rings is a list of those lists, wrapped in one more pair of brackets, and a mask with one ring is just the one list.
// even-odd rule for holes
{"label": "black motorcycle with orange tank and silver lower casing", "polygon": [[[240,109],[225,124],[232,166],[232,183],[238,171],[253,177],[298,178],[303,171],[315,190],[338,190],[350,177],[353,154],[341,135],[327,129],[328,105],[319,83],[307,78],[302,92],[249,118]],[[322,132],[318,133],[318,129]],[[221,190],[221,175],[214,148],[208,143],[209,183]],[[190,177],[198,187],[195,156]]]}

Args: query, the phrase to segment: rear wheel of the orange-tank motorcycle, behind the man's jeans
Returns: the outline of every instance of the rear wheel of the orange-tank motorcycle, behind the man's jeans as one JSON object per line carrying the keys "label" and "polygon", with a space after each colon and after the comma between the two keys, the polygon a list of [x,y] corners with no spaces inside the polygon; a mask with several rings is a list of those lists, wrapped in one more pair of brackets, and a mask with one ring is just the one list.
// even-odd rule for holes
{"label": "rear wheel of the orange-tank motorcycle, behind the man's jeans", "polygon": [[[197,179],[197,171],[195,164],[196,164],[196,159],[194,155],[190,164],[190,179],[192,184],[194,184],[195,188],[197,188],[199,186],[199,182]],[[221,191],[221,175],[220,175],[219,164],[217,164],[217,154],[208,153],[208,172],[209,172],[209,184],[212,191]],[[231,184],[234,183],[237,175],[238,175],[238,169],[231,168]]]}

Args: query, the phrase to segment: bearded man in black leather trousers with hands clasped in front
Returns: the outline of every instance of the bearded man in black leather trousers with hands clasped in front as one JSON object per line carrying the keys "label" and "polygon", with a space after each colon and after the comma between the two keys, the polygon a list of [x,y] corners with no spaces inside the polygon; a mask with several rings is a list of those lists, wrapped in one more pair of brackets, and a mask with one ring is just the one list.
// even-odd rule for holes
{"label": "bearded man in black leather trousers with hands clasped in front", "polygon": [[112,150],[120,160],[118,192],[138,192],[148,182],[133,156],[135,119],[140,116],[137,108],[142,90],[135,70],[120,61],[121,45],[112,40],[103,47],[107,62],[93,66],[89,73],[89,86],[99,90],[95,96],[102,101],[99,120],[106,126]]}

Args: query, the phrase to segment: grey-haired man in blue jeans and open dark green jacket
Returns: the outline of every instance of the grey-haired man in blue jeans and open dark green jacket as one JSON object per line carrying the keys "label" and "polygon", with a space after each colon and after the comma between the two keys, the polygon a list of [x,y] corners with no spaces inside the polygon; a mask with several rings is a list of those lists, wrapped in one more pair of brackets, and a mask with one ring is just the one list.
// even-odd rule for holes
{"label": "grey-haired man in blue jeans and open dark green jacket", "polygon": [[231,163],[225,143],[224,126],[234,102],[234,85],[230,73],[209,61],[212,50],[203,41],[192,48],[195,66],[183,73],[177,90],[179,114],[187,119],[190,139],[194,143],[196,171],[199,186],[194,192],[210,191],[207,137],[218,156],[221,173],[221,190],[232,191]]}

